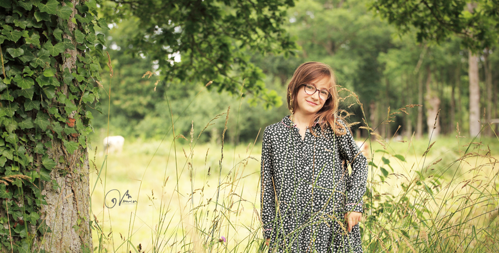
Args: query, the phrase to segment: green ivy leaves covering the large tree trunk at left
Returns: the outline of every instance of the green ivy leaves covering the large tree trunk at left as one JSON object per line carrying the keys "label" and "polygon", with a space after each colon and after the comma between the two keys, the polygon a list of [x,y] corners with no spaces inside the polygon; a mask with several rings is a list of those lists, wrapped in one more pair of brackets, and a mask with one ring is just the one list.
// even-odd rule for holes
{"label": "green ivy leaves covering the large tree trunk at left", "polygon": [[86,106],[99,99],[93,80],[101,70],[87,52],[105,45],[95,27],[107,28],[97,18],[98,3],[0,1],[0,240],[8,252],[38,250],[35,239],[50,232],[39,219],[43,181],[66,163],[50,150],[58,143],[69,154],[87,147]]}

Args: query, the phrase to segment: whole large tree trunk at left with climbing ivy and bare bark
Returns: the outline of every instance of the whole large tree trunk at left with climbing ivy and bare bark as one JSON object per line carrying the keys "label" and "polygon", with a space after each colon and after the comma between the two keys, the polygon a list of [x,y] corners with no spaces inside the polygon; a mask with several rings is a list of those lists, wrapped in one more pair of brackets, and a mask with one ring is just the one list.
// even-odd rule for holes
{"label": "whole large tree trunk at left with climbing ivy and bare bark", "polygon": [[0,1],[1,252],[93,251],[86,106],[100,108],[98,3]]}

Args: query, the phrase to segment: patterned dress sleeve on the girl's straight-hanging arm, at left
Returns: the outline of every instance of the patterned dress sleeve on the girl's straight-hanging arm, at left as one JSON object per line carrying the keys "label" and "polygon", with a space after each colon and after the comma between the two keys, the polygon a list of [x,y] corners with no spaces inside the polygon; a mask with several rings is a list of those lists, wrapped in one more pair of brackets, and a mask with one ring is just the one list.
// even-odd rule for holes
{"label": "patterned dress sleeve on the girl's straight-hanging arm, at left", "polygon": [[275,189],[272,182],[273,162],[272,145],[269,132],[265,128],[261,144],[261,221],[263,222],[263,237],[272,238],[275,233]]}

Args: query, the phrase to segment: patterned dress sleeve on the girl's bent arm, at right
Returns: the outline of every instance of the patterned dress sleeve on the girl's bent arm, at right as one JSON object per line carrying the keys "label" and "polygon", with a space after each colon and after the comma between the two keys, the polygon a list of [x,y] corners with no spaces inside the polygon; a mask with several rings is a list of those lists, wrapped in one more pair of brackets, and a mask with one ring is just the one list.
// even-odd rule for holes
{"label": "patterned dress sleeve on the girl's bent arm, at right", "polygon": [[350,162],[352,174],[346,182],[347,200],[345,204],[346,212],[363,213],[364,202],[362,196],[366,192],[367,183],[367,159],[360,151],[355,140],[347,129],[347,133],[337,137],[340,155]]}

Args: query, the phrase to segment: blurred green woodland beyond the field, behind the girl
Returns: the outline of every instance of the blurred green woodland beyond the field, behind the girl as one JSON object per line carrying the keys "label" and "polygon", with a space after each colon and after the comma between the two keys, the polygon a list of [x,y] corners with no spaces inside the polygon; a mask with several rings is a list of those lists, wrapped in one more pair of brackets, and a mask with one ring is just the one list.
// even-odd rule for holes
{"label": "blurred green woodland beyond the field, behind the girl", "polygon": [[[408,139],[413,134],[415,138],[422,138],[431,131],[434,137],[439,134],[454,136],[458,125],[461,135],[469,135],[469,61],[474,61],[478,66],[479,120],[482,127],[499,118],[497,41],[472,54],[469,48],[465,48],[469,38],[462,34],[450,34],[436,41],[436,32],[430,34],[429,39],[424,39],[420,30],[408,24],[402,32],[397,24],[391,24],[384,18],[390,13],[386,9],[383,12],[379,7],[383,1],[299,0],[294,2],[294,6],[286,5],[284,1],[275,2],[280,2],[282,6],[279,8],[285,11],[282,12],[281,28],[284,29],[282,36],[289,36],[289,45],[278,50],[258,51],[253,46],[238,48],[241,42],[237,39],[229,41],[224,36],[201,37],[197,34],[200,37],[199,45],[215,52],[226,50],[217,47],[221,46],[218,41],[228,40],[223,45],[229,47],[227,50],[237,51],[237,58],[243,59],[240,61],[244,61],[247,66],[238,67],[242,64],[237,60],[222,62],[219,65],[227,66],[210,76],[206,74],[206,69],[196,73],[198,70],[195,64],[191,65],[192,69],[188,69],[186,62],[192,61],[190,57],[193,53],[188,50],[183,53],[168,50],[170,44],[175,43],[161,37],[168,35],[165,35],[168,27],[173,30],[172,34],[183,34],[182,29],[189,28],[185,20],[176,25],[172,24],[171,19],[169,25],[168,21],[154,20],[157,15],[170,13],[160,7],[161,10],[151,13],[147,4],[159,4],[155,1],[142,3],[144,5],[140,8],[144,9],[144,13],[124,2],[103,1],[100,13],[112,16],[107,17],[110,29],[102,31],[107,43],[103,50],[110,55],[114,76],[109,79],[109,68],[103,67],[100,99],[102,114],[93,112],[97,133],[94,138],[103,138],[102,129],[107,127],[108,117],[110,135],[123,135],[127,139],[161,138],[171,126],[170,103],[173,118],[179,117],[175,123],[179,133],[188,135],[192,121],[195,122],[195,131],[199,132],[215,115],[226,112],[232,106],[232,112],[238,110],[239,115],[231,117],[229,125],[235,126],[237,121],[239,125],[227,130],[229,142],[237,144],[254,140],[260,128],[278,122],[288,114],[285,99],[287,80],[299,64],[307,61],[329,64],[336,71],[339,85],[358,96],[362,108],[354,97],[341,103],[341,109],[352,114],[349,121],[359,122],[352,127],[357,138],[367,138],[368,131],[358,128],[366,124],[383,138],[397,135],[400,139]],[[224,8],[230,9],[231,6]],[[414,11],[417,10],[414,7]],[[421,15],[425,13],[420,11]],[[134,15],[125,19],[117,13]],[[149,19],[144,21],[146,18],[143,15],[148,15]],[[176,17],[172,14],[169,18]],[[144,22],[152,27],[145,27]],[[162,24],[165,30],[158,24]],[[431,33],[429,26],[435,24],[426,25],[428,27],[424,29]],[[215,28],[213,31],[216,32]],[[203,32],[200,31],[201,34]],[[157,38],[153,41],[154,36]],[[176,38],[180,44],[183,38],[178,36]],[[162,40],[164,44],[158,45]],[[206,45],[203,45],[204,41],[208,41]],[[105,53],[101,59],[101,65],[106,66],[108,59]],[[175,68],[176,65],[181,67]],[[190,73],[186,73],[183,67]],[[250,68],[251,76],[248,77]],[[157,76],[143,78],[147,71]],[[232,81],[224,82],[227,78]],[[157,80],[161,82],[155,87]],[[214,83],[205,88],[205,84],[212,80]],[[351,93],[345,91],[340,94],[348,97]],[[196,96],[199,99],[194,99]],[[423,107],[407,108],[407,114],[399,112],[389,117],[407,105]],[[202,140],[220,143],[217,136],[220,136],[223,128],[224,124],[209,127]],[[482,134],[496,136],[494,131],[497,133],[498,124],[484,127]],[[477,135],[477,132],[473,132],[473,135]]]}

